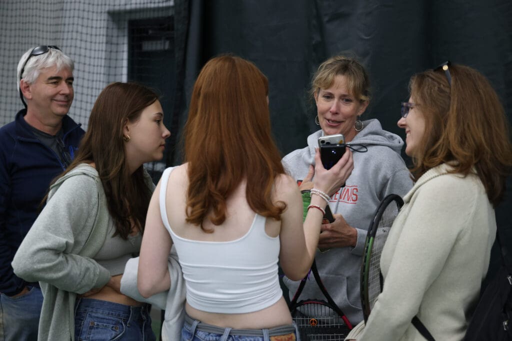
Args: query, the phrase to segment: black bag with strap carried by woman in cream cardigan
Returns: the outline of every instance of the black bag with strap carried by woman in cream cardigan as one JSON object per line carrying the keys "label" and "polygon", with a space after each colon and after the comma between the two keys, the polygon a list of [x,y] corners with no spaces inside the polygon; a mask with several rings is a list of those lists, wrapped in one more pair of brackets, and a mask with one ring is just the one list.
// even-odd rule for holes
{"label": "black bag with strap carried by woman in cream cardigan", "polygon": [[[480,295],[463,341],[512,340],[512,266],[501,244],[499,230],[496,231],[496,238],[503,265]],[[417,316],[414,316],[412,323],[425,339],[434,341]]]}

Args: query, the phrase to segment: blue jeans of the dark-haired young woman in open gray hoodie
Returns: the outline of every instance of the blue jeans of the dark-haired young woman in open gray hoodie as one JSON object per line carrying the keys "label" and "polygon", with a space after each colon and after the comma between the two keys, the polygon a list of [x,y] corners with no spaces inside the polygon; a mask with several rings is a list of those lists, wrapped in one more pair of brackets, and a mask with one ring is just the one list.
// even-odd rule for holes
{"label": "blue jeans of the dark-haired young woman in open gray hoodie", "polygon": [[94,299],[75,304],[75,339],[78,341],[155,341],[149,305],[127,306]]}

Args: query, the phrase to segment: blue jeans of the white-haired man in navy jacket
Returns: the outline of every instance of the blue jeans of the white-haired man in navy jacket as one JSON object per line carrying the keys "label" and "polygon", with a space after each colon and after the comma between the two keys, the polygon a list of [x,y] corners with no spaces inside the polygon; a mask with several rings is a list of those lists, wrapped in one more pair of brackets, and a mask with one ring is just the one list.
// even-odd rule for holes
{"label": "blue jeans of the white-haired man in navy jacket", "polygon": [[0,294],[0,341],[37,340],[42,294],[40,288],[28,288],[16,298]]}

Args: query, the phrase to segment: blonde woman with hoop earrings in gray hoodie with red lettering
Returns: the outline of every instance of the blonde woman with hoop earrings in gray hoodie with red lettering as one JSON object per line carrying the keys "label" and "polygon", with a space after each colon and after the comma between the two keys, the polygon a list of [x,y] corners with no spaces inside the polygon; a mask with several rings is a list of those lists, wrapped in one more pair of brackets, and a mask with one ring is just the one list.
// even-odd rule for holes
{"label": "blonde woman with hoop earrings in gray hoodie with red lettering", "polygon": [[[331,196],[329,207],[334,222],[322,225],[316,264],[327,291],[355,325],[362,320],[359,293],[361,256],[373,214],[388,194],[405,195],[412,187],[411,175],[400,156],[403,141],[383,130],[376,119],[360,121],[370,101],[368,73],[357,60],[335,56],[323,62],[313,76],[311,94],[317,109],[315,122],[322,129],[308,137],[308,146],[283,158],[283,165],[307,189],[314,176],[314,154],[318,138],[343,134],[345,142],[364,145],[366,152],[354,151],[354,170]],[[361,151],[362,151],[361,150]],[[300,282],[284,278],[293,297]],[[308,281],[303,298],[324,296],[314,281]]]}

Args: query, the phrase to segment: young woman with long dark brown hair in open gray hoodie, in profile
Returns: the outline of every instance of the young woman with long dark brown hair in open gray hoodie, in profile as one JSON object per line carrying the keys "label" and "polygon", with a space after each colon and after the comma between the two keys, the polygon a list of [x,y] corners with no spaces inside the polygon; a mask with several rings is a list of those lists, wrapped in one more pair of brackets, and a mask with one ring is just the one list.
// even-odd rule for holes
{"label": "young woman with long dark brown hair in open gray hoodie, in profile", "polygon": [[75,160],[12,262],[41,285],[39,340],[155,340],[148,305],[122,294],[120,280],[155,188],[143,164],[161,160],[169,135],[153,90],[117,82],[98,96]]}

